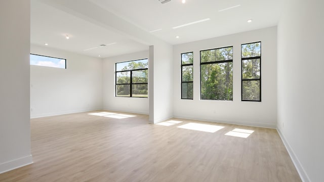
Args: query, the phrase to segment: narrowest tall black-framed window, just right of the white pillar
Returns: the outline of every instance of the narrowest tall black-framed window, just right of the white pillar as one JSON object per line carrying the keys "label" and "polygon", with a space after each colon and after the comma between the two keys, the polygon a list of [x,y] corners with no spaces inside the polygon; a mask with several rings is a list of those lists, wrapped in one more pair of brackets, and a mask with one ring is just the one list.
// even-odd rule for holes
{"label": "narrowest tall black-framed window, just right of the white pillar", "polygon": [[181,54],[181,99],[193,99],[193,53]]}

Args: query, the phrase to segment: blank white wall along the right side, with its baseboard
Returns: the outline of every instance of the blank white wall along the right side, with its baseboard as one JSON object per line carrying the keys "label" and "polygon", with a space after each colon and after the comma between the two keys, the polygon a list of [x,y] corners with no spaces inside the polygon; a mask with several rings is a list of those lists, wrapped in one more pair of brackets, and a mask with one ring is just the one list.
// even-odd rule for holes
{"label": "blank white wall along the right side, with its baseboard", "polygon": [[289,0],[277,30],[277,128],[304,181],[324,179],[323,7]]}

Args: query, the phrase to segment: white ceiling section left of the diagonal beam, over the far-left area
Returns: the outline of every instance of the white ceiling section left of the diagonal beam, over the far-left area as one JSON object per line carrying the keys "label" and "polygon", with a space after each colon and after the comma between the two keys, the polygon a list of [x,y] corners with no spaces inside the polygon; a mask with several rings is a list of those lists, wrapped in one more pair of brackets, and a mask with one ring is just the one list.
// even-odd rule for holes
{"label": "white ceiling section left of the diagonal beam, over the far-left area", "polygon": [[[31,5],[30,39],[33,44],[48,43],[51,48],[101,58],[148,49],[147,45],[38,1],[32,1]],[[115,44],[99,47],[110,43]]]}

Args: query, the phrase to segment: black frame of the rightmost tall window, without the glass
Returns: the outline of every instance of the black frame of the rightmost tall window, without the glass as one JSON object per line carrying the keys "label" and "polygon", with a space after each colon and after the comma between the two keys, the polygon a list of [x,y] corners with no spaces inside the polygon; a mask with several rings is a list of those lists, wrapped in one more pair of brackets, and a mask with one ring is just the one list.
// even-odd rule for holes
{"label": "black frame of the rightmost tall window, without the glass", "polygon": [[[251,43],[260,43],[260,56],[254,56],[254,57],[247,57],[247,58],[242,58],[242,45],[246,45],[246,44],[251,44]],[[261,56],[262,56],[262,43],[261,41],[256,41],[256,42],[250,42],[250,43],[242,43],[241,44],[241,101],[247,101],[247,102],[261,102]],[[253,59],[260,59],[260,77],[259,78],[252,78],[252,79],[247,79],[247,78],[243,78],[243,61],[244,60],[253,60]],[[259,94],[259,100],[244,100],[243,99],[243,82],[244,81],[260,81],[260,86],[259,86],[259,90],[260,90],[260,94]]]}

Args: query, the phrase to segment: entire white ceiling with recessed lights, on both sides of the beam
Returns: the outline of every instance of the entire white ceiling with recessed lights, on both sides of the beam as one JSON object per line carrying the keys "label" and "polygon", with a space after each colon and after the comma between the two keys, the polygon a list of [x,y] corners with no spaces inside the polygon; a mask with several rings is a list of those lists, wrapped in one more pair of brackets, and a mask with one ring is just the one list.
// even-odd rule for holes
{"label": "entire white ceiling with recessed lights, on both sides of the beam", "polygon": [[[150,42],[144,37],[179,44],[275,26],[280,2],[186,0],[182,4],[182,0],[171,0],[161,4],[158,0],[32,0],[31,43],[48,43],[48,47],[56,49],[111,57],[148,50]],[[210,20],[172,28],[207,18]],[[161,30],[150,33],[157,29]],[[66,34],[70,39],[65,38]],[[113,42],[116,43],[99,47]],[[95,47],[99,48],[91,49]],[[87,49],[91,50],[84,51]]]}

